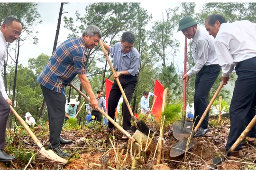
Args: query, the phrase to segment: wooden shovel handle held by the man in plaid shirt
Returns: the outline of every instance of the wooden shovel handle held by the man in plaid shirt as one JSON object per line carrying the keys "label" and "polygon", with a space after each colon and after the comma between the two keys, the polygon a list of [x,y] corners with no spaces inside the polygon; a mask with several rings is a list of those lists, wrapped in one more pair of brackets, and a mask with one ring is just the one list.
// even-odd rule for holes
{"label": "wooden shovel handle held by the man in plaid shirt", "polygon": [[[73,87],[78,93],[80,93],[82,95],[82,97],[84,97],[88,102],[91,102],[91,100],[84,94],[82,93],[78,88],[76,88],[74,85],[72,85],[71,83],[69,84],[71,87]],[[125,134],[126,136],[128,136],[128,138],[132,141],[135,142],[135,139],[130,136],[130,134],[125,131],[122,127],[119,126],[119,124],[117,122],[115,122],[112,118],[110,118],[110,116],[105,113],[103,110],[101,110],[101,108],[97,107],[97,110],[99,110],[101,112],[102,115],[104,115],[105,117],[107,117],[107,119],[110,120],[110,122],[116,126],[123,134]]]}

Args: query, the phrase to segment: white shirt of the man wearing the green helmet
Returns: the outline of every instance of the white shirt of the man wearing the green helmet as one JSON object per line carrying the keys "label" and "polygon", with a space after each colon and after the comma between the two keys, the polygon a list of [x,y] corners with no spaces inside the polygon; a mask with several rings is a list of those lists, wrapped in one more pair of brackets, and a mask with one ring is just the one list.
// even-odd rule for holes
{"label": "white shirt of the man wearing the green helmet", "polygon": [[192,38],[194,67],[187,72],[188,76],[197,74],[206,65],[217,65],[217,53],[214,48],[214,38],[208,34],[206,28],[197,26],[196,34]]}

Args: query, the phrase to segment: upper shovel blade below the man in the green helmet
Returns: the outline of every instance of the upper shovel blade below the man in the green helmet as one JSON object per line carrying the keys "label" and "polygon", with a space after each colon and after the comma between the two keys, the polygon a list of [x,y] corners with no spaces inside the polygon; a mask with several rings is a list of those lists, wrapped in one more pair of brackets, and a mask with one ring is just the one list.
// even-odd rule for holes
{"label": "upper shovel blade below the man in the green helmet", "polygon": [[177,140],[183,140],[185,137],[190,136],[192,130],[192,121],[182,121],[178,120],[173,124],[173,136]]}

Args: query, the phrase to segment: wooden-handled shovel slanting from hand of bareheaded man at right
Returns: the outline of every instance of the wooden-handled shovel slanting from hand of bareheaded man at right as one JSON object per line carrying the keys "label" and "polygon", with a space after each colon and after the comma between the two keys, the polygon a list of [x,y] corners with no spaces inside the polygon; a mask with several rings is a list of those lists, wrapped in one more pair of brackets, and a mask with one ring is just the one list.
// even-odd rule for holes
{"label": "wooden-handled shovel slanting from hand of bareheaded man at right", "polygon": [[199,120],[197,126],[192,131],[191,136],[189,138],[184,138],[183,140],[179,141],[178,143],[174,144],[174,146],[172,146],[172,148],[170,150],[170,157],[175,158],[175,157],[178,157],[178,156],[182,155],[183,153],[185,153],[185,150],[187,148],[187,144],[188,144],[188,150],[191,149],[194,146],[194,143],[191,140],[194,137],[198,128],[200,127],[200,125],[201,125],[203,119],[205,118],[205,116],[207,115],[208,111],[210,110],[210,106],[212,105],[212,103],[216,99],[216,97],[219,94],[223,85],[224,84],[223,84],[223,81],[222,81],[221,84],[219,85],[219,88],[217,89],[216,93],[214,94],[214,96],[210,100],[210,103],[208,104],[206,110],[204,111],[204,113],[203,113],[201,119]]}

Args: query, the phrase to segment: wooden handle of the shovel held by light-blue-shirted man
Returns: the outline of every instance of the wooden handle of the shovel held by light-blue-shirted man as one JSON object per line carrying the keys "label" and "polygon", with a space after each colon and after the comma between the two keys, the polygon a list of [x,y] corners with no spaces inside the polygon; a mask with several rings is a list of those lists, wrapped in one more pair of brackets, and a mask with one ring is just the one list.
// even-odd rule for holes
{"label": "wooden handle of the shovel held by light-blue-shirted man", "polygon": [[[113,67],[112,64],[111,64],[111,61],[110,61],[109,56],[108,56],[108,53],[107,53],[107,51],[105,50],[105,48],[104,48],[104,46],[103,46],[102,40],[101,40],[99,43],[100,43],[100,45],[101,45],[101,49],[102,49],[102,51],[103,51],[104,54],[105,54],[105,57],[106,57],[106,59],[107,59],[109,65],[110,65],[110,68],[111,68],[113,74],[116,73],[114,67]],[[122,87],[122,85],[121,85],[121,83],[120,83],[120,81],[119,81],[119,78],[116,78],[116,81],[117,81],[117,83],[118,83],[118,86],[119,86],[119,89],[120,89],[121,93],[123,94],[125,103],[126,103],[126,105],[127,105],[127,107],[128,107],[128,110],[129,110],[129,112],[130,112],[130,114],[131,114],[131,117],[132,117],[132,119],[133,119],[135,125],[137,126],[136,119],[135,119],[135,117],[134,117],[134,115],[133,115],[133,112],[132,112],[132,110],[131,110],[130,103],[128,102],[128,99],[127,99],[127,97],[126,97],[126,95],[125,95],[125,93],[124,93],[124,90],[123,90],[123,87]]]}

